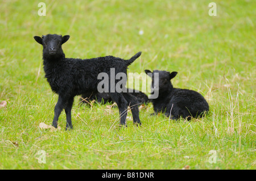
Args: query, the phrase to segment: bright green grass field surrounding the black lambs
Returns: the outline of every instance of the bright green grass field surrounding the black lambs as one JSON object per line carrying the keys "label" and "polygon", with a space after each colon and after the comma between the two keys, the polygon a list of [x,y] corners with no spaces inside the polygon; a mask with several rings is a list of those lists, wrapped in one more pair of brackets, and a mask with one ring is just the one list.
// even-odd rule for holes
{"label": "bright green grass field surrounding the black lambs", "polygon": [[[45,1],[46,16],[38,16],[39,2],[1,1],[0,169],[256,169],[256,3],[215,1],[217,16],[209,16],[209,2]],[[199,91],[210,113],[175,122],[150,116],[149,104],[142,127],[127,119],[119,129],[117,108],[79,106],[77,97],[72,131],[64,131],[64,112],[61,130],[40,129],[57,102],[33,39],[46,33],[71,35],[66,57],[130,58],[141,50],[129,72],[178,71],[173,85]]]}

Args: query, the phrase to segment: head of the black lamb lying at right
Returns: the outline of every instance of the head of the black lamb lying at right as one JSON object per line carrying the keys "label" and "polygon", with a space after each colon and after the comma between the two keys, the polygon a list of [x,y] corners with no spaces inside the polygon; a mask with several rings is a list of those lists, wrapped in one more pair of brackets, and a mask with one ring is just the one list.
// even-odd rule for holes
{"label": "head of the black lamb lying at right", "polygon": [[155,90],[166,92],[172,89],[171,79],[177,75],[177,71],[172,71],[172,73],[162,70],[154,70],[153,72],[150,70],[144,71],[152,78],[151,92],[154,92]]}

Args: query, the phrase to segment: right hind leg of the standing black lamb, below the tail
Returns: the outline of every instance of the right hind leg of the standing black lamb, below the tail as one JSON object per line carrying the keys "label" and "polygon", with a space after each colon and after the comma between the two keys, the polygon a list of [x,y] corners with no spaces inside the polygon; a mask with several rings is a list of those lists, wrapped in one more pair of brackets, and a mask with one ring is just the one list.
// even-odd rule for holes
{"label": "right hind leg of the standing black lamb, below the tail", "polygon": [[123,96],[127,100],[131,113],[133,114],[133,123],[137,125],[141,125],[141,120],[139,119],[139,108],[137,98],[131,95],[129,92],[123,92]]}

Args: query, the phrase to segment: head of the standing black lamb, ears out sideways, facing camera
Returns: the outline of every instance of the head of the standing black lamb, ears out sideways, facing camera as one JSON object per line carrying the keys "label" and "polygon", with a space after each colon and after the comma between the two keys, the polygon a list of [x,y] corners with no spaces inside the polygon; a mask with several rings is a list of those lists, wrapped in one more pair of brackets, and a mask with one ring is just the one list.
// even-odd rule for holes
{"label": "head of the standing black lamb, ears out sideways, facing camera", "polygon": [[40,36],[34,36],[34,39],[39,44],[43,45],[43,55],[47,57],[56,57],[63,54],[61,45],[69,39],[69,35],[56,35],[48,34]]}

